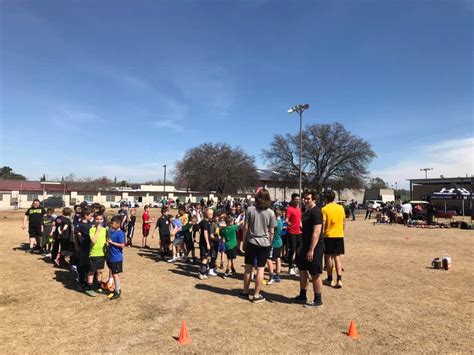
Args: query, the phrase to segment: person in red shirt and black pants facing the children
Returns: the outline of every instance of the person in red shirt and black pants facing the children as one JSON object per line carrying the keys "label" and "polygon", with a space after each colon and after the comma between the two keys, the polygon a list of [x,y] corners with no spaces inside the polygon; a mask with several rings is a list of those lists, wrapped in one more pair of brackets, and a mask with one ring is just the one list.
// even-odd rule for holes
{"label": "person in red shirt and black pants facing the children", "polygon": [[286,229],[286,248],[288,250],[288,273],[290,275],[296,275],[293,258],[301,245],[301,209],[298,207],[299,203],[300,195],[294,193],[291,195],[290,205],[286,209],[285,222],[288,225]]}

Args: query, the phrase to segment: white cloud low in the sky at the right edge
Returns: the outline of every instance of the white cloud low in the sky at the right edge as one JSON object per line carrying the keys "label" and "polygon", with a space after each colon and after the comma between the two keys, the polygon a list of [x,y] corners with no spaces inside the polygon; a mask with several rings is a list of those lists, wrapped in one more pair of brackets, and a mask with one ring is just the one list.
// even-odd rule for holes
{"label": "white cloud low in the sky at the right edge", "polygon": [[[374,170],[371,176],[378,176],[390,185],[408,188],[407,179],[424,178],[421,168],[433,168],[428,177],[457,177],[473,174],[474,137],[450,139],[439,143],[416,147],[387,168]],[[383,156],[381,157],[383,158]]]}

